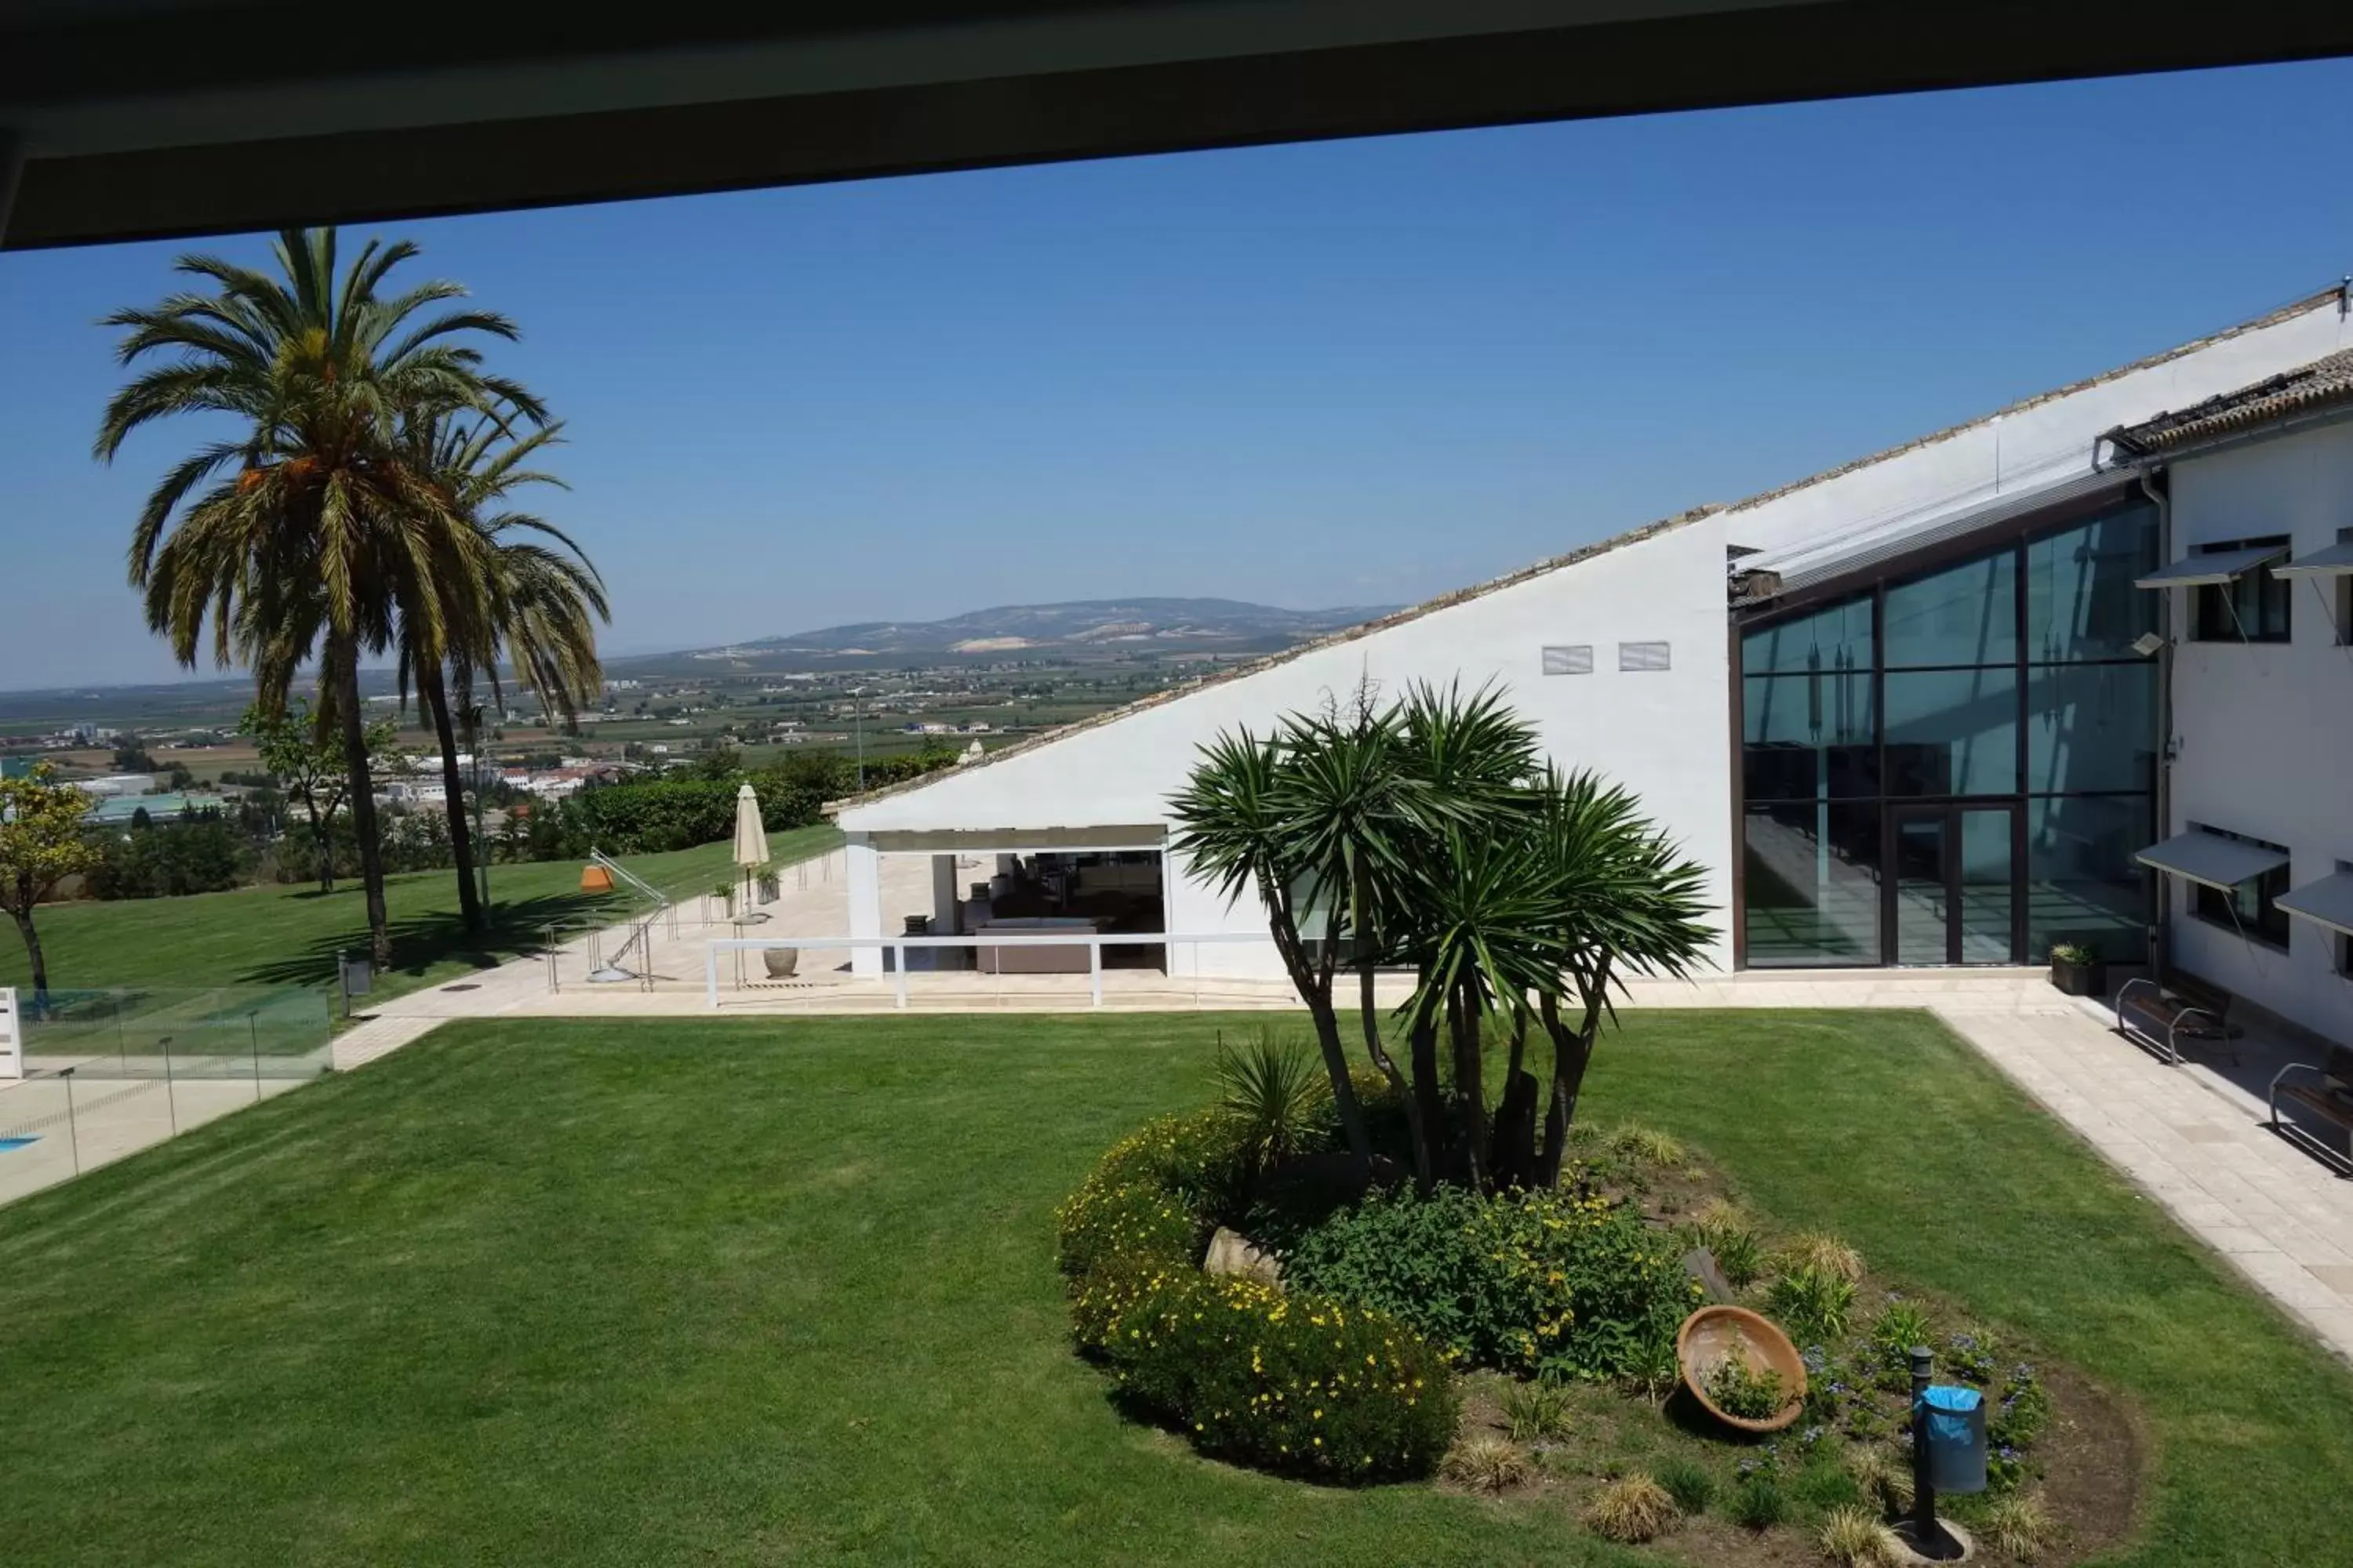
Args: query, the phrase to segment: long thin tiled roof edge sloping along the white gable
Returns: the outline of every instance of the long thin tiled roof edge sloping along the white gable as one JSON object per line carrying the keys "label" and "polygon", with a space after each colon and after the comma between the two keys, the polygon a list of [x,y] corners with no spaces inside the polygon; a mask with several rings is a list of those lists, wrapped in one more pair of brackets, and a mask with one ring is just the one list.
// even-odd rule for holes
{"label": "long thin tiled roof edge sloping along the white gable", "polygon": [[[1840,477],[1845,477],[1849,473],[1857,473],[1861,468],[1871,468],[1873,463],[1885,463],[1885,461],[1899,458],[1899,456],[1904,456],[1908,451],[1918,451],[1922,447],[1934,447],[1937,442],[1946,442],[1946,440],[1953,440],[1958,435],[1967,435],[1969,430],[1981,430],[1984,425],[1988,425],[1988,423],[1993,423],[1998,418],[2007,418],[2012,414],[2021,414],[2026,409],[2035,409],[2035,407],[2042,407],[2047,402],[2057,402],[2061,397],[2071,397],[2075,393],[2082,393],[2082,390],[2094,388],[2094,386],[2104,386],[2108,381],[2115,381],[2120,376],[2129,376],[2134,371],[2144,371],[2144,369],[2151,369],[2151,367],[2158,367],[2158,364],[2167,364],[2169,360],[2181,360],[2181,357],[2193,355],[2193,353],[2198,353],[2202,348],[2209,348],[2214,343],[2224,343],[2228,339],[2245,336],[2249,331],[2261,331],[2264,327],[2275,327],[2280,322],[2289,322],[2289,320],[2304,315],[2306,310],[2311,310],[2313,306],[2320,306],[2322,301],[2332,301],[2332,299],[2341,301],[2341,299],[2346,299],[2346,292],[2341,287],[2320,289],[2318,294],[2308,294],[2308,296],[2294,301],[2294,303],[2280,306],[2278,310],[2268,310],[2268,313],[2264,313],[2264,315],[2259,315],[2254,320],[2240,322],[2235,327],[2226,327],[2221,331],[2207,334],[2202,339],[2193,339],[2188,343],[2177,343],[2174,348],[2167,348],[2162,353],[2153,353],[2153,355],[2148,355],[2144,360],[2134,360],[2129,364],[2118,364],[2115,369],[2106,369],[2106,371],[2101,371],[2097,376],[2085,376],[2082,381],[2071,381],[2066,386],[2059,386],[2059,388],[2052,388],[2052,390],[2045,390],[2045,393],[2035,393],[2033,397],[2021,397],[2021,400],[2009,402],[2009,404],[2005,404],[2000,409],[1993,409],[1991,414],[1981,414],[1977,418],[1962,421],[1958,425],[1946,425],[1944,430],[1932,430],[1927,435],[1915,435],[1913,440],[1897,442],[1894,447],[1885,447],[1880,451],[1873,451],[1871,456],[1852,458],[1852,461],[1840,463],[1835,468],[1826,468],[1821,473],[1807,475],[1805,480],[1793,480],[1788,484],[1779,484],[1774,489],[1760,491],[1760,494],[1748,496],[1744,501],[1734,501],[1732,505],[1722,505],[1722,503],[1694,505],[1694,508],[1689,508],[1685,512],[1675,512],[1673,517],[1661,517],[1661,520],[1647,522],[1647,524],[1642,524],[1638,529],[1628,529],[1624,534],[1614,534],[1614,536],[1595,541],[1591,545],[1581,545],[1581,548],[1569,550],[1565,555],[1553,555],[1553,557],[1546,557],[1546,559],[1534,562],[1529,567],[1522,567],[1518,571],[1508,571],[1508,574],[1504,574],[1499,578],[1492,578],[1487,583],[1475,583],[1471,588],[1457,588],[1454,592],[1440,595],[1435,599],[1426,599],[1421,604],[1412,604],[1412,607],[1400,609],[1395,614],[1381,616],[1379,621],[1365,621],[1365,623],[1344,628],[1339,632],[1329,632],[1325,637],[1313,637],[1313,639],[1301,642],[1297,646],[1282,649],[1280,654],[1268,654],[1264,658],[1252,658],[1247,663],[1228,665],[1226,670],[1219,670],[1214,675],[1205,675],[1200,679],[1191,679],[1191,682],[1184,682],[1184,684],[1176,684],[1176,686],[1167,686],[1165,691],[1153,691],[1148,696],[1136,698],[1134,703],[1122,703],[1118,708],[1106,708],[1104,712],[1087,715],[1085,719],[1075,719],[1071,724],[1061,724],[1056,729],[1040,731],[1040,733],[1028,736],[1026,741],[1016,741],[1014,745],[1007,745],[1002,750],[986,752],[979,762],[969,762],[969,764],[962,764],[962,766],[955,766],[955,769],[941,769],[936,773],[922,773],[918,778],[906,778],[906,780],[889,783],[889,785],[882,785],[882,788],[875,788],[875,790],[866,790],[864,795],[852,795],[847,799],[828,802],[826,811],[828,813],[838,813],[838,811],[847,811],[852,806],[873,804],[878,799],[889,799],[889,797],[896,797],[896,795],[911,795],[915,790],[925,790],[925,788],[946,783],[946,780],[951,780],[951,778],[955,778],[955,776],[960,776],[960,773],[965,773],[969,769],[984,769],[984,766],[993,766],[998,762],[1009,762],[1009,759],[1021,757],[1026,752],[1033,752],[1033,750],[1038,750],[1042,745],[1054,745],[1056,741],[1064,741],[1068,736],[1075,736],[1075,733],[1082,733],[1082,731],[1089,731],[1089,729],[1101,729],[1104,724],[1115,724],[1118,719],[1125,719],[1125,717],[1129,717],[1134,712],[1144,712],[1148,708],[1158,708],[1162,703],[1174,703],[1174,701],[1193,696],[1195,691],[1202,691],[1207,686],[1217,686],[1217,684],[1235,682],[1235,679],[1247,679],[1247,677],[1252,677],[1252,675],[1257,675],[1261,670],[1273,670],[1275,665],[1285,665],[1285,663],[1289,663],[1294,658],[1306,658],[1308,654],[1318,654],[1318,651],[1332,649],[1332,646],[1344,646],[1344,644],[1355,642],[1360,637],[1372,637],[1374,632],[1386,632],[1393,625],[1405,625],[1407,621],[1419,621],[1421,616],[1431,616],[1431,614],[1438,614],[1442,609],[1454,609],[1457,604],[1468,604],[1473,599],[1482,599],[1482,597],[1487,597],[1492,592],[1501,592],[1506,588],[1515,588],[1518,583],[1525,583],[1529,578],[1539,578],[1539,576],[1544,576],[1548,571],[1560,571],[1562,567],[1574,567],[1579,562],[1593,559],[1595,555],[1607,555],[1609,550],[1621,550],[1626,545],[1642,543],[1645,538],[1657,538],[1659,534],[1666,534],[1671,529],[1680,529],[1685,524],[1699,522],[1701,517],[1713,517],[1718,512],[1725,512],[1725,515],[1746,512],[1746,510],[1767,505],[1772,501],[1781,501],[1784,496],[1793,496],[1793,494],[1812,489],[1817,484],[1828,484],[1831,480],[1840,480]],[[2348,353],[2353,353],[2353,350],[2348,350]],[[2344,357],[2344,355],[2332,355],[2332,357]]]}

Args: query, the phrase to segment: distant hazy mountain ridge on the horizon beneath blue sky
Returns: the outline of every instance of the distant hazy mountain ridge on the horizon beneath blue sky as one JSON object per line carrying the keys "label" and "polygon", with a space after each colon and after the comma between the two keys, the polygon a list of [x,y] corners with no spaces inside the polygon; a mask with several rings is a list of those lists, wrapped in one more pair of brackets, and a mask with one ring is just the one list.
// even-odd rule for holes
{"label": "distant hazy mountain ridge on the horizon beneath blue sky", "polygon": [[[1240,599],[1071,599],[1000,604],[946,621],[856,621],[734,644],[758,654],[1021,654],[1122,649],[1264,649],[1322,637],[1391,614],[1391,607],[1278,609]],[[725,654],[727,649],[715,649]]]}

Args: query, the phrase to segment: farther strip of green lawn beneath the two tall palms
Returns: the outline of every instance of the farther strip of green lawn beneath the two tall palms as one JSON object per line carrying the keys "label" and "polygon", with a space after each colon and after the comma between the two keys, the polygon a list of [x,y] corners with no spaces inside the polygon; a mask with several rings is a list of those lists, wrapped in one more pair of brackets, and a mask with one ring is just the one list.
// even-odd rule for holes
{"label": "farther strip of green lawn beneath the two tall palms", "polygon": [[[769,837],[779,865],[807,860],[842,842],[840,830],[795,827]],[[708,893],[729,875],[727,842],[621,863],[654,886],[685,898]],[[376,997],[398,997],[454,980],[473,969],[539,952],[548,922],[591,914],[619,919],[631,903],[581,893],[576,860],[492,865],[492,929],[468,936],[456,919],[456,875],[412,872],[386,882],[393,926],[393,973]],[[264,886],[195,898],[64,903],[40,910],[40,945],[54,990],[334,985],[334,954],[367,952],[367,907],[358,882],[334,893],[315,886]],[[0,933],[0,985],[28,985],[24,945]]]}

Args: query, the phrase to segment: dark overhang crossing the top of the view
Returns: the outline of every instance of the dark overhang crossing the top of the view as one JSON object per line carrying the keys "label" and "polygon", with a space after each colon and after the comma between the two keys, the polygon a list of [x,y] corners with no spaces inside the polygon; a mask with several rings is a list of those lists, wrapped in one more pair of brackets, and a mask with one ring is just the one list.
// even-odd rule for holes
{"label": "dark overhang crossing the top of the view", "polygon": [[7,247],[2353,54],[2235,0],[0,0]]}

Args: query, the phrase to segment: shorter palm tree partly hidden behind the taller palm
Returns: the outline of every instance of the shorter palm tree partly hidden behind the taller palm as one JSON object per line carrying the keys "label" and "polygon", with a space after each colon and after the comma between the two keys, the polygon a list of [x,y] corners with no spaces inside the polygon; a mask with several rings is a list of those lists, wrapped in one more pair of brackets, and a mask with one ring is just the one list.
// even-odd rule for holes
{"label": "shorter palm tree partly hidden behind the taller palm", "polygon": [[[527,468],[560,435],[562,423],[544,423],[522,435],[511,418],[456,414],[412,421],[405,433],[414,461],[433,475],[449,512],[489,545],[485,581],[459,583],[438,621],[426,614],[402,616],[407,637],[400,651],[402,689],[409,679],[416,682],[416,705],[431,719],[442,755],[449,851],[456,863],[459,914],[468,931],[487,926],[475,882],[480,846],[466,823],[466,788],[456,764],[456,715],[468,717],[468,745],[478,750],[475,670],[487,670],[496,686],[504,654],[548,712],[562,712],[567,722],[602,682],[595,621],[612,618],[605,581],[567,534],[527,512],[506,510],[508,496],[527,484],[562,489],[555,475]],[[435,625],[438,637],[431,635]]]}

